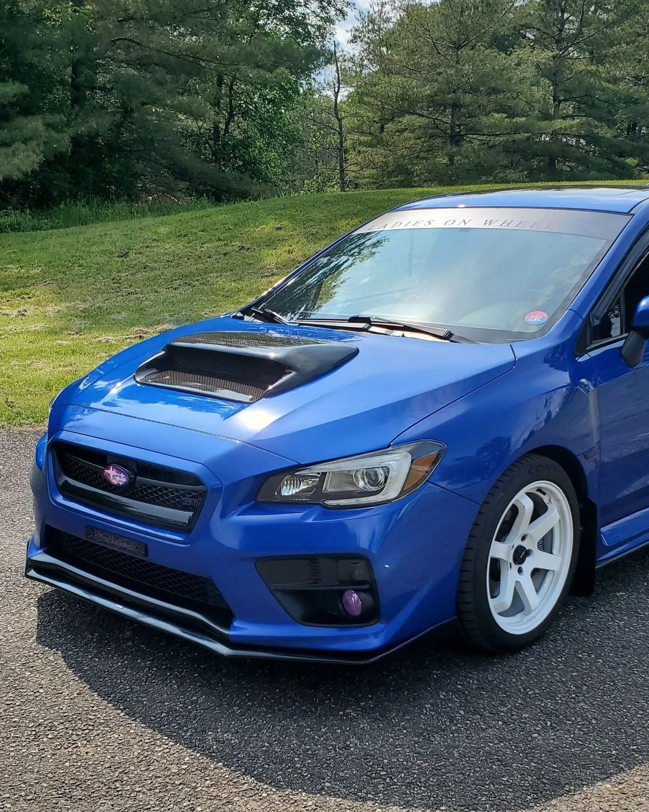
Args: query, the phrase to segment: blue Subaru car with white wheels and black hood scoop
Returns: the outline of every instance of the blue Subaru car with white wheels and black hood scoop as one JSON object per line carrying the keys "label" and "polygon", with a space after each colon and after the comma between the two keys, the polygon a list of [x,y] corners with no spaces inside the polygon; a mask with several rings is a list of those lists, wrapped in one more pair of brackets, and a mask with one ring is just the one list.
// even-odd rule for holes
{"label": "blue Subaru car with white wheels and black hood scoop", "polygon": [[54,399],[28,577],[219,654],[528,646],[649,542],[649,187],[402,205]]}

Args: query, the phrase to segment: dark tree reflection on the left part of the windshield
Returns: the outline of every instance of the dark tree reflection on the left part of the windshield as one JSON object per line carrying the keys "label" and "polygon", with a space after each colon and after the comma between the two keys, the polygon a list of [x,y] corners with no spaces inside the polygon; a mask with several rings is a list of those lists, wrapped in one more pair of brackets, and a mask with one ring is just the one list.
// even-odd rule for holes
{"label": "dark tree reflection on the left part of the windshield", "polygon": [[264,304],[290,318],[306,316],[316,308],[324,309],[335,296],[346,271],[375,257],[387,240],[387,235],[372,231],[346,237]]}

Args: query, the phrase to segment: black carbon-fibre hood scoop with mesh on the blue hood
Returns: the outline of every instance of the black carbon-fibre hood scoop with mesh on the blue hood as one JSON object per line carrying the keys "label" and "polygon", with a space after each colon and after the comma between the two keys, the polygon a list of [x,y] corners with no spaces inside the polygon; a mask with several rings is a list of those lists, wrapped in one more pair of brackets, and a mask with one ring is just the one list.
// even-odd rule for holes
{"label": "black carbon-fibre hood scoop with mesh on the blue hood", "polygon": [[135,380],[221,400],[253,403],[320,378],[359,352],[342,341],[272,332],[193,333],[145,361]]}

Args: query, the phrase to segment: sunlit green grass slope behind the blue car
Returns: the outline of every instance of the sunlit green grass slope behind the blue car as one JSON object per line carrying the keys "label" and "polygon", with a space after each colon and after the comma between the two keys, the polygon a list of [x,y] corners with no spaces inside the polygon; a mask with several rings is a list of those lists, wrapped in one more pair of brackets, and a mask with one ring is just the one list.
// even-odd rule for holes
{"label": "sunlit green grass slope behind the blue car", "polygon": [[0,236],[0,426],[44,421],[57,391],[119,349],[235,309],[350,227],[440,191],[281,197]]}

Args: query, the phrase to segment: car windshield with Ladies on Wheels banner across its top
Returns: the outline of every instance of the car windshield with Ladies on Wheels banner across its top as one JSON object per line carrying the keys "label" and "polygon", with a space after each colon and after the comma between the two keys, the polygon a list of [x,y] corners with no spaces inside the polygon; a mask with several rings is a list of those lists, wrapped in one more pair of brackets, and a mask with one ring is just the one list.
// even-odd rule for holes
{"label": "car windshield with Ladies on Wheels banner across its top", "polygon": [[263,307],[290,320],[363,315],[479,341],[531,338],[564,312],[629,219],[569,209],[389,212],[321,253]]}

